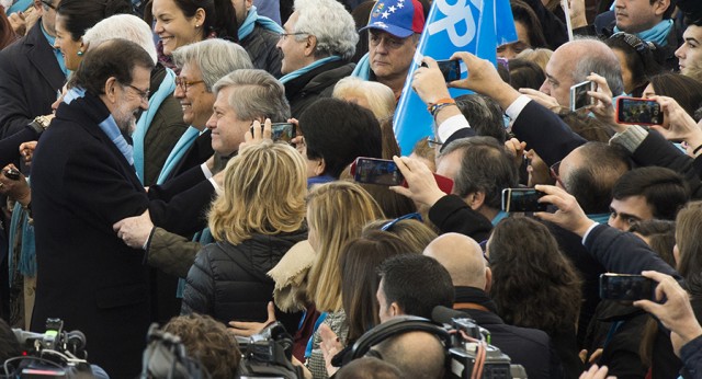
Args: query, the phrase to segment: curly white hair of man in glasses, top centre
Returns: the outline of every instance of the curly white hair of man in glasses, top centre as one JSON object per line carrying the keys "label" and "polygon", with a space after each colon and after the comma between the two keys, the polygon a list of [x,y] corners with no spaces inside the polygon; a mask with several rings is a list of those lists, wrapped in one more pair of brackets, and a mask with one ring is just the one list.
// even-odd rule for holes
{"label": "curly white hair of man in glasses, top centre", "polygon": [[[359,42],[353,16],[336,0],[295,0],[298,13],[294,33],[306,33],[317,38],[316,57],[337,55],[351,59]],[[297,41],[305,35],[296,36]]]}

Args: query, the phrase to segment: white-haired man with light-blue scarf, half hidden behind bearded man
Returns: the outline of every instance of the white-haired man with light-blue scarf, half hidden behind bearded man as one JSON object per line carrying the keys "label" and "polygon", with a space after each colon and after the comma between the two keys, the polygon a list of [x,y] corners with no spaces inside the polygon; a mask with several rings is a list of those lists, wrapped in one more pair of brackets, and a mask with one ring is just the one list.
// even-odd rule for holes
{"label": "white-haired man with light-blue scarf, half hidden behind bearded man", "polygon": [[132,133],[136,174],[144,185],[152,185],[168,153],[188,128],[180,104],[172,96],[176,73],[158,62],[151,28],[144,20],[132,14],[115,14],[88,30],[83,43],[91,49],[113,38],[136,43],[156,64],[149,83],[149,108],[141,112]]}

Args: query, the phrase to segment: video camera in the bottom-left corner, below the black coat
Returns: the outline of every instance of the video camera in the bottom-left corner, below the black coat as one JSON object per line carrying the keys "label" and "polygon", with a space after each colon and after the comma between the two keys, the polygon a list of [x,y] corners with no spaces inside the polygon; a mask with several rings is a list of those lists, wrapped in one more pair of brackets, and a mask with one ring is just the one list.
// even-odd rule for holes
{"label": "video camera in the bottom-left corner, below the black coat", "polygon": [[[64,321],[47,319],[45,333],[13,329],[22,356],[9,358],[3,375],[14,378],[93,378],[86,336],[64,331]],[[11,370],[12,368],[12,370]]]}

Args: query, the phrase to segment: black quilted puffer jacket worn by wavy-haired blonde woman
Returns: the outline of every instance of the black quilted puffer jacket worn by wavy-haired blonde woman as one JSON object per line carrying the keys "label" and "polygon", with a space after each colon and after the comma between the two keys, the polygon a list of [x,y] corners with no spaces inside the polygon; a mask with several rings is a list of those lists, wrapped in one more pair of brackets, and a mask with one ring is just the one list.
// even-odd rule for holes
{"label": "black quilted puffer jacket worn by wavy-haired blonde woman", "polygon": [[267,320],[273,280],[265,275],[307,230],[278,236],[254,234],[233,245],[204,246],[188,273],[181,314],[203,313],[228,322]]}

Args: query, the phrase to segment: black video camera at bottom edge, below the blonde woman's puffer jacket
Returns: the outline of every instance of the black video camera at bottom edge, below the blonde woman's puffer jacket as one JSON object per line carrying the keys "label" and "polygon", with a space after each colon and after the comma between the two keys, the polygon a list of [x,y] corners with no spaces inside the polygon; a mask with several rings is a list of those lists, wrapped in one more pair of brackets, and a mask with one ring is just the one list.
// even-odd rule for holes
{"label": "black video camera at bottom edge, below the blonde woman's puffer jacket", "polygon": [[280,322],[273,322],[249,340],[237,338],[245,352],[239,367],[247,378],[303,378],[301,368],[292,364],[293,337]]}

